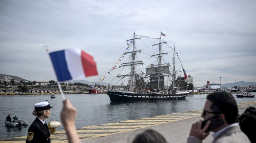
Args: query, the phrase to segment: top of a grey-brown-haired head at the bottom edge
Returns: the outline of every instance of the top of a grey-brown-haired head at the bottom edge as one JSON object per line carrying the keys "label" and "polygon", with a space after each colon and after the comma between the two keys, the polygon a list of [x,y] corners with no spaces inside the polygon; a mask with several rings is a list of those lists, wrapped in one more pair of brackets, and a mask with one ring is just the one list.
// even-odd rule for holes
{"label": "top of a grey-brown-haired head at the bottom edge", "polygon": [[159,132],[148,129],[137,134],[132,143],[166,143],[166,139]]}

